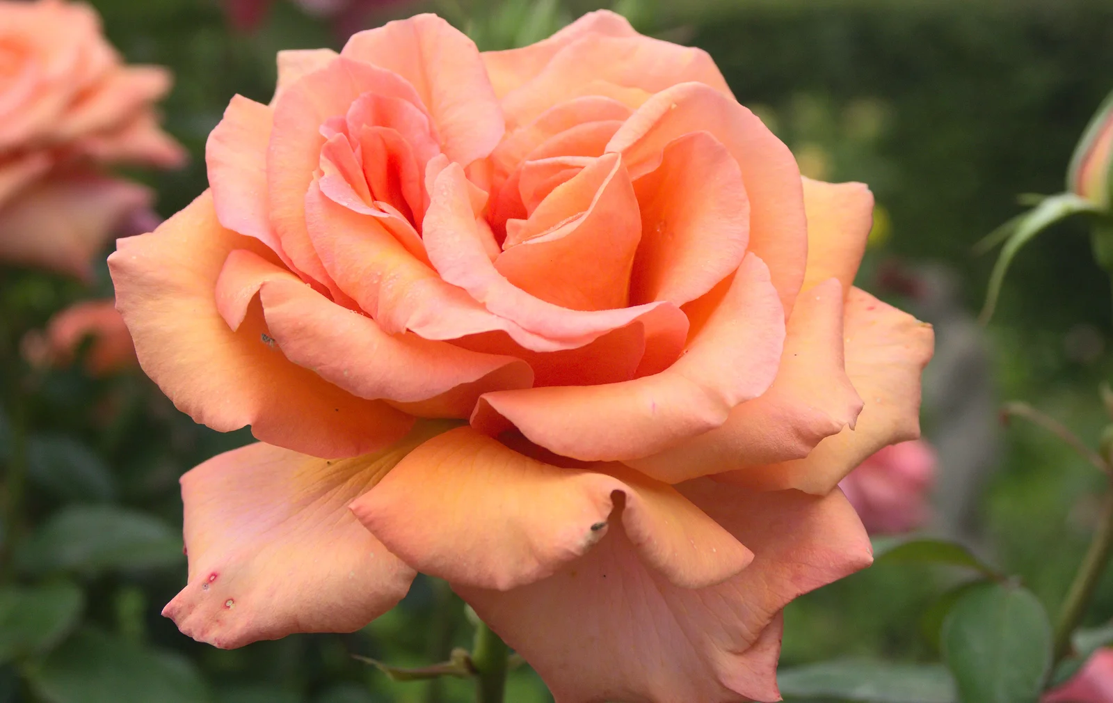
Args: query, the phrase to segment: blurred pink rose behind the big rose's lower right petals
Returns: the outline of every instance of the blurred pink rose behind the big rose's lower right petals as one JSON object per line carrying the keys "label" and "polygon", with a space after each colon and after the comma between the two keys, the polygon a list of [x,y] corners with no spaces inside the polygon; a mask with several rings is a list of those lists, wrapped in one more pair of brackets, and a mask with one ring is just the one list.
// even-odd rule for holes
{"label": "blurred pink rose behind the big rose's lower right petals", "polygon": [[839,484],[871,534],[907,533],[929,517],[935,451],[924,440],[892,445]]}

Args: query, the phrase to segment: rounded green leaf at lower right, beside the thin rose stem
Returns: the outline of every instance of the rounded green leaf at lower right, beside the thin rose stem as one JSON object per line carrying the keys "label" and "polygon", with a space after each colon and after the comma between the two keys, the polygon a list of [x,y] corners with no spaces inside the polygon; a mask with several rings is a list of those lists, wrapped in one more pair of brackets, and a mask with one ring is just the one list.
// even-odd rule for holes
{"label": "rounded green leaf at lower right, beside the thin rose stem", "polygon": [[1035,703],[1052,661],[1043,605],[1013,584],[973,588],[943,623],[943,661],[963,703]]}

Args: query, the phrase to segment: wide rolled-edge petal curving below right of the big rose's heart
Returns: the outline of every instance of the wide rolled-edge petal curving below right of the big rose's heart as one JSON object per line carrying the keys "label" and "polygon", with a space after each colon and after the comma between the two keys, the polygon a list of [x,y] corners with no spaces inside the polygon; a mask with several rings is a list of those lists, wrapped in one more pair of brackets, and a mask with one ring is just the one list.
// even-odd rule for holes
{"label": "wide rolled-edge petal curving below right of the big rose's heart", "polygon": [[499,391],[480,399],[472,424],[512,424],[530,441],[574,459],[627,460],[722,424],[777,373],[784,313],[761,260],[747,256],[723,303],[667,370],[623,383]]}

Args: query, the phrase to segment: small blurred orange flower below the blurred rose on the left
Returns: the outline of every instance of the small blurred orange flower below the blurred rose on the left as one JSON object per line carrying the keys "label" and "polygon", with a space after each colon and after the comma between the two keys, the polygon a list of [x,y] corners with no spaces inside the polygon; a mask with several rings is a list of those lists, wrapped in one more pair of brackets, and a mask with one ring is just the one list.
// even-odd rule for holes
{"label": "small blurred orange flower below the blurred rose on the left", "polygon": [[138,363],[131,334],[112,300],[86,301],[59,312],[45,331],[23,338],[23,357],[36,367],[69,365],[87,338],[91,343],[85,370],[90,375],[107,375]]}

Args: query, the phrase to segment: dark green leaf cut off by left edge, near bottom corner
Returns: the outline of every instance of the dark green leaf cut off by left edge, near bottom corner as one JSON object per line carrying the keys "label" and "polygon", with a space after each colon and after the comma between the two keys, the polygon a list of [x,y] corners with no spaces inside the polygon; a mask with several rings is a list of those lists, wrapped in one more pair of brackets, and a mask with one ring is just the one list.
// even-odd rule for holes
{"label": "dark green leaf cut off by left edge, near bottom corner", "polygon": [[85,597],[70,583],[0,588],[0,664],[49,651],[81,616]]}

